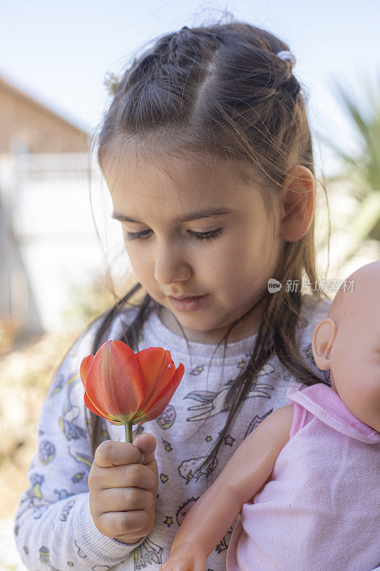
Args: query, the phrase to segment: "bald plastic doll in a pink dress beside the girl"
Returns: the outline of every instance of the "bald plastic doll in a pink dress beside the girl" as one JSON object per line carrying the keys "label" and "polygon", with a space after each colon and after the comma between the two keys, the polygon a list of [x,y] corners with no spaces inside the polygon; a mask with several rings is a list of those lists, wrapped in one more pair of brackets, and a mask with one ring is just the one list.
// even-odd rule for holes
{"label": "bald plastic doll in a pink dress beside the girl", "polygon": [[348,278],[312,352],[331,388],[291,383],[195,502],[160,571],[206,571],[240,513],[227,571],[371,571],[380,564],[380,261]]}

